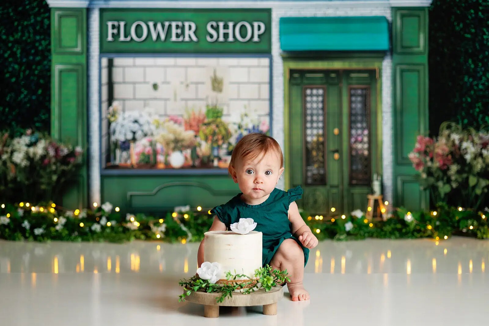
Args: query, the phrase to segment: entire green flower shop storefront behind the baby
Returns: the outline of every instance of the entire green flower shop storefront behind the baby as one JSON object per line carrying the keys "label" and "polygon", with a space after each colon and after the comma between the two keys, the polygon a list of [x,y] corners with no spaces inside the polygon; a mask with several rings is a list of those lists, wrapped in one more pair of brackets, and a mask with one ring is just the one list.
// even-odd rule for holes
{"label": "entire green flower shop storefront behind the baby", "polygon": [[230,154],[255,131],[311,214],[365,210],[374,190],[427,207],[407,155],[428,125],[430,1],[48,3],[52,132],[87,149],[66,206],[211,208],[238,192]]}

